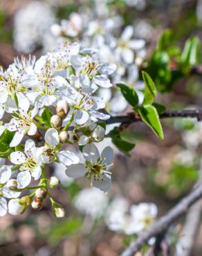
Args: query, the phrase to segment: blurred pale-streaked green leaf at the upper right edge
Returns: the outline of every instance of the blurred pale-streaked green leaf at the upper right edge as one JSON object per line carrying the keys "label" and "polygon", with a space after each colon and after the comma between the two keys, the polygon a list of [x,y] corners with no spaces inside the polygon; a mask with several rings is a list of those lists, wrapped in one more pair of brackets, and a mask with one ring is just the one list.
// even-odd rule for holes
{"label": "blurred pale-streaked green leaf at the upper right edge", "polygon": [[183,53],[181,55],[181,62],[185,66],[196,65],[199,58],[200,41],[198,37],[191,37],[187,39]]}

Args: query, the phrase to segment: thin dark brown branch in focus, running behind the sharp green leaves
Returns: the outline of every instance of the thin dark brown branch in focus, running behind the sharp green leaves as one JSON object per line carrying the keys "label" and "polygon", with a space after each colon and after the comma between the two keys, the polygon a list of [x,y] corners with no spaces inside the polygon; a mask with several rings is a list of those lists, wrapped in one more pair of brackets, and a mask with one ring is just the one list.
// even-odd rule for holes
{"label": "thin dark brown branch in focus, running behind the sharp green leaves", "polygon": [[[167,110],[160,114],[160,118],[197,118],[198,121],[202,120],[202,109],[187,109],[187,110]],[[114,123],[131,124],[133,122],[143,122],[140,116],[137,116],[134,112],[129,113],[126,116],[111,116],[106,121],[107,125]]]}

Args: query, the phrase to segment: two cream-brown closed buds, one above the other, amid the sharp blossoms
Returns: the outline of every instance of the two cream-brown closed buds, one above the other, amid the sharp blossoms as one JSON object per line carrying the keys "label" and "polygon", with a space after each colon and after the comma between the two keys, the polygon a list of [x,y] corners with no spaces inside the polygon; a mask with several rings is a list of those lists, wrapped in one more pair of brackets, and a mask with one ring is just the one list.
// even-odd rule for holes
{"label": "two cream-brown closed buds, one above the other, amid the sharp blossoms", "polygon": [[59,100],[56,105],[56,115],[53,115],[50,118],[50,125],[53,128],[59,128],[62,127],[62,120],[66,118],[68,112],[70,110],[68,102],[66,100]]}

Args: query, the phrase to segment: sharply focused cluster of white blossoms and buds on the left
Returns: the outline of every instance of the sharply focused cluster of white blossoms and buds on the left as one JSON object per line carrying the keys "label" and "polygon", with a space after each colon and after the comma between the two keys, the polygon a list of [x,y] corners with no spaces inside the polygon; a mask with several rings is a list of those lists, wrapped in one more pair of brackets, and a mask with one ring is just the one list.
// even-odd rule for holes
{"label": "sharply focused cluster of white blossoms and buds on the left", "polygon": [[[100,111],[105,103],[95,93],[112,86],[109,75],[115,70],[115,64],[100,62],[96,51],[66,43],[37,61],[17,58],[1,71],[0,116],[10,118],[0,126],[0,140],[9,148],[0,153],[7,159],[0,168],[1,216],[21,214],[29,205],[39,210],[48,196],[54,214],[64,217],[49,192],[59,183],[55,176],[46,178],[50,163],[62,165],[73,179],[84,177],[109,191],[113,150],[105,147],[100,154],[96,143],[104,139],[104,120],[110,116]],[[82,159],[68,145],[75,145]],[[33,193],[19,199],[25,190]],[[11,199],[8,205],[6,199]]]}

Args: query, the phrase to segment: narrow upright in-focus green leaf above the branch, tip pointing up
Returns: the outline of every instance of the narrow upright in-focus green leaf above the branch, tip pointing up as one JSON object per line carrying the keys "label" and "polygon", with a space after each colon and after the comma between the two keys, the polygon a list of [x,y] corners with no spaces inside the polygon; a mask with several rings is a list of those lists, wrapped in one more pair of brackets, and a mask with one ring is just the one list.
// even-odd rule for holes
{"label": "narrow upright in-focus green leaf above the branch, tip pointing up", "polygon": [[152,104],[156,97],[156,86],[152,80],[152,78],[145,72],[142,72],[143,80],[145,82],[145,98],[143,101],[143,105]]}

